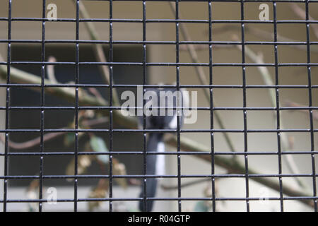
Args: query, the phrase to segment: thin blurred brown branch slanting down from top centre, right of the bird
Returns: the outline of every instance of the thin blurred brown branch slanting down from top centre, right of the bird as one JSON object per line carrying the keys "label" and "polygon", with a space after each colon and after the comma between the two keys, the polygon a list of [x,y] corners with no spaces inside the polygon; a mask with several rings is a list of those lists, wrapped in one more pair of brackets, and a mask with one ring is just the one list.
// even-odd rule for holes
{"label": "thin blurred brown branch slanting down from top centre, right of the bird", "polygon": [[[170,1],[170,6],[172,9],[172,12],[174,13],[174,15],[176,15],[175,12],[175,3],[173,3],[172,1]],[[180,13],[179,16],[181,17]],[[191,37],[189,35],[189,31],[187,30],[187,26],[184,23],[179,23],[179,28],[181,30],[182,36],[184,37],[184,40],[186,41],[191,41]],[[196,54],[196,49],[194,47],[193,44],[187,44],[187,50],[189,52],[189,55],[192,59],[193,63],[200,63],[199,61],[199,57],[198,54]],[[204,69],[202,66],[196,66],[195,67],[196,70],[196,74],[199,78],[199,81],[202,85],[206,85],[208,84],[208,81],[206,80],[206,74],[204,73]],[[206,96],[206,100],[210,100],[210,91],[209,89],[203,89],[204,90],[204,95]],[[211,106],[212,107],[212,106]],[[218,122],[218,125],[220,126],[220,129],[225,129],[225,125],[223,124],[223,121],[220,117],[220,113],[218,111],[213,111],[213,114],[215,115],[216,121]],[[233,145],[232,141],[230,140],[230,136],[228,136],[228,133],[222,133],[224,138],[225,138],[225,142],[227,143],[228,147],[230,148],[231,151],[235,151],[235,146]]]}

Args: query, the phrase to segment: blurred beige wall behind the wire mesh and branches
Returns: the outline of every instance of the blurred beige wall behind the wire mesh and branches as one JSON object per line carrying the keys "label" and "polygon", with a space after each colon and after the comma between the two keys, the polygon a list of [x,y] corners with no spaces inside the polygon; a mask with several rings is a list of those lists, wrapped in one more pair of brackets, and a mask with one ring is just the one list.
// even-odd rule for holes
{"label": "blurred beige wall behind the wire mesh and branches", "polygon": [[[6,1],[0,2],[0,17],[7,16]],[[13,17],[41,17],[42,1],[13,1]],[[50,1],[47,1],[50,3]],[[75,11],[70,1],[59,0],[52,1],[58,6],[58,17],[69,18],[75,17]],[[278,4],[278,19],[294,19],[296,18],[292,11],[289,10],[286,4]],[[107,18],[109,16],[107,2],[86,2],[86,6],[91,16],[94,18]],[[174,18],[167,3],[147,2],[147,18]],[[246,4],[245,16],[247,19],[258,19],[258,6],[259,4]],[[28,10],[27,10],[28,9]],[[270,7],[271,9],[271,7]],[[205,3],[181,3],[180,11],[182,18],[188,19],[206,19],[207,4]],[[310,4],[310,13],[314,18],[318,18],[318,4]],[[114,2],[114,18],[142,18],[142,4],[134,2]],[[240,4],[217,3],[213,4],[213,18],[214,19],[240,19]],[[271,13],[272,18],[272,13]],[[107,23],[95,23],[100,36],[103,40],[108,40],[108,25]],[[208,26],[206,24],[187,24],[190,35],[193,40],[207,40],[206,32]],[[213,29],[220,28],[219,24],[213,25]],[[246,25],[247,28],[252,25]],[[254,25],[255,27],[255,25]],[[12,24],[12,38],[13,39],[39,39],[41,38],[41,24],[39,22],[13,22]],[[257,28],[271,32],[272,25],[257,25]],[[75,37],[75,25],[73,23],[47,23],[47,39],[73,39]],[[0,39],[6,39],[6,23],[0,21]],[[141,23],[114,23],[114,40],[141,40],[142,26]],[[278,32],[280,35],[290,37],[293,40],[305,41],[305,25],[278,25]],[[236,32],[240,37],[240,32]],[[85,28],[81,25],[80,30],[81,39],[89,39],[85,32]],[[213,40],[225,41],[231,40],[231,32],[213,35]],[[261,38],[254,35],[246,35],[247,41],[259,41]],[[182,39],[182,38],[181,38]],[[148,23],[147,24],[147,40],[175,40],[175,24],[173,23]],[[311,41],[318,41],[314,34],[310,35]],[[272,46],[250,46],[255,52],[264,54],[264,61],[266,63],[273,63],[273,47]],[[175,46],[173,45],[149,45],[151,62],[174,62],[175,61]],[[0,43],[0,53],[6,56],[6,46]],[[312,62],[318,62],[318,54],[312,53]],[[204,50],[199,52],[199,60],[208,62],[208,51]],[[191,62],[187,52],[180,53],[180,61]],[[216,49],[213,52],[213,61],[218,63],[225,62],[242,62],[240,52],[236,49]],[[278,61],[283,63],[293,62],[307,62],[306,52],[297,50],[291,47],[279,46],[278,47]],[[247,62],[252,62],[247,59]],[[206,75],[208,75],[208,68],[204,68]],[[274,71],[270,68],[272,77],[274,78]],[[175,81],[175,67],[153,67],[150,69],[152,76],[152,83],[172,83]],[[281,85],[306,85],[307,84],[307,71],[306,68],[301,67],[284,67],[279,69],[279,83]],[[259,85],[263,84],[259,71],[256,67],[247,68],[247,84]],[[181,83],[184,84],[199,84],[196,78],[196,73],[193,67],[181,67],[180,71]],[[213,69],[213,83],[218,85],[242,85],[242,69],[240,67],[216,67]],[[318,69],[312,67],[312,84],[318,84]],[[217,107],[242,107],[242,90],[235,89],[215,89],[214,98]],[[4,93],[4,92],[3,92]],[[1,93],[1,97],[4,97]],[[318,105],[318,91],[313,90],[313,105]],[[285,105],[288,100],[299,102],[301,105],[308,104],[307,90],[301,89],[281,89],[281,106]],[[0,102],[1,105],[4,102]],[[267,90],[265,89],[249,89],[247,90],[247,105],[249,107],[271,107],[271,102]],[[203,92],[199,90],[199,106],[207,107],[208,102],[204,99]],[[243,115],[242,112],[221,112],[221,118],[225,121],[228,129],[243,129]],[[1,112],[0,112],[1,117]],[[298,128],[308,129],[309,118],[307,115],[300,112],[285,111],[282,113],[282,118],[286,129]],[[209,112],[199,112],[199,120],[196,124],[186,125],[185,129],[209,129]],[[1,120],[3,121],[3,120]],[[276,129],[275,121],[271,112],[255,111],[248,112],[247,114],[248,129]],[[218,124],[216,124],[218,128]],[[317,121],[314,123],[314,128],[317,129]],[[210,146],[210,136],[208,133],[186,133],[182,136],[195,138],[197,141],[204,143],[207,147]],[[242,134],[230,133],[232,142],[235,143],[237,151],[243,151],[244,140]],[[294,150],[310,150],[310,137],[305,133],[290,133],[290,136],[295,140]],[[250,133],[248,136],[248,150],[250,151],[275,151],[277,150],[276,135],[270,133]],[[315,134],[315,145],[318,146],[318,136]],[[228,151],[223,136],[217,133],[215,136],[216,151]],[[240,157],[243,161],[243,158]],[[169,157],[170,164],[168,170],[171,174],[176,174],[176,157]],[[201,160],[194,157],[182,156],[182,174],[210,174],[211,165],[208,165]],[[311,160],[306,155],[296,155],[295,161],[300,167],[301,173],[311,172]],[[249,167],[255,167],[259,172],[264,173],[277,173],[278,160],[276,156],[266,155],[262,157],[249,156]],[[316,161],[316,168],[318,164]],[[223,169],[217,167],[217,173],[223,173]],[[285,160],[283,161],[283,173],[288,173]],[[192,179],[182,179],[182,183]],[[176,180],[163,180],[166,183],[176,184]],[[310,178],[305,181],[312,186]],[[292,179],[283,179],[284,184],[294,184]],[[210,183],[211,184],[211,183]],[[218,196],[225,197],[244,197],[245,196],[245,180],[244,179],[220,179],[218,182]],[[189,188],[182,189],[182,196],[193,197],[203,196],[202,190],[206,184],[199,184]],[[0,190],[1,191],[1,190]],[[262,186],[250,181],[250,196],[261,196]],[[166,194],[165,194],[166,196]],[[177,196],[176,192],[171,192],[170,196]],[[269,196],[278,196],[277,193],[269,190]],[[175,202],[176,203],[176,202]],[[183,202],[184,210],[191,210],[194,202]],[[235,204],[233,204],[235,203]],[[289,203],[290,205],[288,205]],[[251,202],[252,210],[279,210],[279,203],[271,202],[271,205],[259,205],[257,202]],[[160,210],[160,207],[157,207]],[[218,204],[220,210],[245,210],[245,202],[237,201],[230,203]],[[167,210],[167,209],[165,209]],[[172,204],[169,210],[177,210],[177,205]],[[285,210],[305,210],[305,207],[297,202],[286,201]]]}

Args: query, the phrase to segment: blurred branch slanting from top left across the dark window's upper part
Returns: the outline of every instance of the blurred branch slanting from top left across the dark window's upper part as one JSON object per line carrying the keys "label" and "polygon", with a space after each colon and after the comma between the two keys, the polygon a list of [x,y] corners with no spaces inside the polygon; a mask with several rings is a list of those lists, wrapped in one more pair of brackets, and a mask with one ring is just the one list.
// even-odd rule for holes
{"label": "blurred branch slanting from top left across the dark window's upper part", "polygon": [[[72,0],[74,4],[76,4],[76,0]],[[84,19],[90,19],[90,15],[88,11],[86,10],[86,7],[84,6],[83,2],[79,2],[79,11],[81,13],[81,16]],[[88,35],[90,35],[90,40],[98,41],[100,40],[100,37],[98,35],[98,31],[96,30],[94,24],[90,21],[84,22],[86,26],[86,30],[88,31]],[[102,49],[102,44],[94,43],[93,44],[93,50],[95,52],[95,57],[99,62],[106,63],[107,59],[104,54],[104,50]],[[107,65],[100,65],[100,72],[102,73],[102,78],[104,78],[104,81],[106,84],[110,84],[110,69]],[[112,100],[113,105],[119,105],[119,97],[117,95],[116,88],[112,88]]]}

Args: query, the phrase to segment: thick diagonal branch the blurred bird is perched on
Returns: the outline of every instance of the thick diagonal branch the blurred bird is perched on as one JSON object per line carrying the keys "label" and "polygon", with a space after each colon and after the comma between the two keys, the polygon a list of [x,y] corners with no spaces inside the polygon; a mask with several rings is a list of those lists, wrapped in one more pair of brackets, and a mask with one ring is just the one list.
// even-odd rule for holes
{"label": "thick diagonal branch the blurred bird is perched on", "polygon": [[[0,61],[1,61],[1,56],[0,56]],[[6,65],[0,65],[0,78],[6,79],[6,75],[7,75]],[[20,71],[18,69],[15,69],[14,67],[11,67],[10,77],[11,77],[12,83],[39,84],[41,81],[41,78],[39,76],[35,76],[25,71]],[[49,81],[47,79],[45,80],[45,84],[49,84]],[[71,103],[73,103],[76,99],[75,91],[70,92],[69,90],[66,90],[65,88],[48,87],[46,91],[51,95],[62,97]],[[90,95],[86,95],[85,97],[81,98],[79,102],[81,105],[97,106],[97,107],[107,106],[107,102],[97,100],[97,98],[92,97]],[[108,116],[109,111],[101,111],[100,114]],[[124,126],[125,128],[130,128],[130,129],[138,128],[136,117],[125,117],[121,111],[114,111],[113,117],[114,117],[114,122]],[[176,146],[177,138],[173,137],[169,141],[167,141],[167,143],[170,145]],[[181,141],[179,144],[180,144],[181,150],[183,151],[198,151],[198,152],[211,151],[211,148],[203,145],[202,143],[196,142],[192,139],[185,138],[185,137],[181,138]],[[211,164],[211,155],[194,155],[194,156],[201,158],[202,160],[205,160],[206,162],[209,162],[209,164]],[[228,171],[230,172],[245,174],[245,164],[242,164],[242,162],[238,161],[237,159],[223,157],[220,155],[214,155],[213,157],[216,162],[216,165],[219,165],[220,167],[223,167],[224,169],[228,169]],[[250,179],[253,179],[254,181],[259,182],[261,184],[264,184],[264,186],[269,186],[271,189],[280,191],[281,188],[276,179],[270,179],[268,177],[252,177],[253,174],[261,174],[260,172],[257,172],[257,170],[253,169],[252,167],[249,167],[249,173],[250,173],[249,174]],[[283,186],[283,194],[287,196],[297,196],[297,197],[312,196],[311,194],[307,194],[306,192],[302,190],[293,189],[291,186],[288,186],[286,184]],[[300,201],[311,207],[313,206],[313,202],[310,199],[302,199]]]}

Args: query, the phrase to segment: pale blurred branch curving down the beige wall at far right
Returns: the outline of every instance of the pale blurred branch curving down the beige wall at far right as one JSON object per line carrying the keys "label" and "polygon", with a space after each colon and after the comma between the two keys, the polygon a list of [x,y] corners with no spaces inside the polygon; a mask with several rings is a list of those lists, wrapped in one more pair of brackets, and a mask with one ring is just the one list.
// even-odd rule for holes
{"label": "pale blurred branch curving down the beige wall at far right", "polygon": [[[237,37],[234,36],[234,39],[237,40]],[[242,51],[242,46],[237,45],[237,49]],[[260,54],[255,54],[252,51],[252,49],[249,49],[249,47],[247,47],[246,45],[245,45],[245,54],[249,57],[249,59],[254,61],[255,64],[264,64],[263,57]],[[257,69],[259,69],[259,73],[261,73],[263,81],[266,85],[269,85],[269,86],[275,85],[271,78],[271,73],[269,73],[269,70],[265,66],[257,66]],[[274,89],[267,89],[267,90],[269,91],[271,105],[273,107],[279,107],[279,106],[276,106],[276,91]],[[278,114],[281,114],[281,112],[279,112]],[[273,112],[273,117],[277,119],[277,115],[274,112]],[[279,125],[280,125],[280,129],[284,128],[283,119],[281,117],[280,117]],[[288,136],[286,133],[281,133],[281,149],[282,150],[290,149]],[[300,174],[300,170],[298,169],[298,166],[293,158],[293,155],[283,155],[283,156],[285,156],[285,160],[287,162],[288,169],[290,169],[290,172],[292,172],[293,174]],[[306,183],[303,182],[302,178],[299,178],[299,177],[294,177],[294,178],[301,187],[303,188],[307,187]]]}

